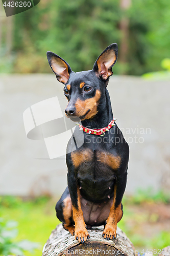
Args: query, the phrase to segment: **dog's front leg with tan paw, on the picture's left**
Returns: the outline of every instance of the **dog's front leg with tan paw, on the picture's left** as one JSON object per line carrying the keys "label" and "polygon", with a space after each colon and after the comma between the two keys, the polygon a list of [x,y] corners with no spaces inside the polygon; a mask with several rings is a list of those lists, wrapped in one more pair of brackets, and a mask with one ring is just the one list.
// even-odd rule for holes
{"label": "dog's front leg with tan paw, on the picture's left", "polygon": [[81,209],[80,202],[80,188],[78,187],[74,170],[68,170],[67,179],[72,203],[73,218],[75,221],[75,239],[84,244],[90,236],[83,218],[83,211]]}

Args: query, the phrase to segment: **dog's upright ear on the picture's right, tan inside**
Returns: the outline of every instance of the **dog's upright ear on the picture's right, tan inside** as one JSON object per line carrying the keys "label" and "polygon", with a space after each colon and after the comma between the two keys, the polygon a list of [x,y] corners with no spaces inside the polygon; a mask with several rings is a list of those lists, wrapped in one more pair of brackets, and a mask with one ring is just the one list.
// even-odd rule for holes
{"label": "dog's upright ear on the picture's right, tan inside", "polygon": [[112,67],[116,63],[118,54],[117,44],[111,44],[96,59],[93,70],[97,76],[103,80],[107,80],[113,74]]}

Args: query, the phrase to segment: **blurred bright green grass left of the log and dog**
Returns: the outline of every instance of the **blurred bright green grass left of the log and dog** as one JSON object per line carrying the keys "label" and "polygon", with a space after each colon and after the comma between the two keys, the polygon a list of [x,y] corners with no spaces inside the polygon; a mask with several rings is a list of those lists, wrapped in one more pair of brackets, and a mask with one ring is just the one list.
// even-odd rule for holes
{"label": "blurred bright green grass left of the log and dog", "polygon": [[5,220],[18,222],[18,236],[15,241],[27,239],[40,245],[33,253],[27,251],[25,255],[41,255],[51,231],[59,224],[55,201],[47,198],[22,201],[20,198],[1,197],[0,204],[0,216]]}

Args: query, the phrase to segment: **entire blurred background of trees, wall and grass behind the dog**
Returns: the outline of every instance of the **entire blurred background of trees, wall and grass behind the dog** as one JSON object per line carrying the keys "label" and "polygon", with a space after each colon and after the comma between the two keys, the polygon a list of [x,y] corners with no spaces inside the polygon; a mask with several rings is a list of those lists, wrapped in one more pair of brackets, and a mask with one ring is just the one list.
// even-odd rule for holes
{"label": "entire blurred background of trees, wall and grass behind the dog", "polygon": [[27,138],[22,117],[48,98],[57,96],[62,111],[67,104],[46,51],[77,72],[92,69],[112,42],[119,54],[108,90],[130,146],[118,226],[141,254],[157,255],[169,245],[169,1],[41,0],[10,17],[0,3],[0,255],[41,255],[59,223],[55,204],[67,184],[65,156],[50,160],[44,140]]}

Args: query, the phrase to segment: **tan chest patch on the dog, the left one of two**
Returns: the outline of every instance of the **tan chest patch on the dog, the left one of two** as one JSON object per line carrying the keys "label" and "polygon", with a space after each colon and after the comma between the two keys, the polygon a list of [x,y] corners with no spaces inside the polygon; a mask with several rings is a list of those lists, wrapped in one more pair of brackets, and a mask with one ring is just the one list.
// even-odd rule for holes
{"label": "tan chest patch on the dog, the left one of two", "polygon": [[74,151],[71,152],[71,159],[74,166],[77,168],[81,163],[92,160],[93,154],[89,149],[83,151]]}

